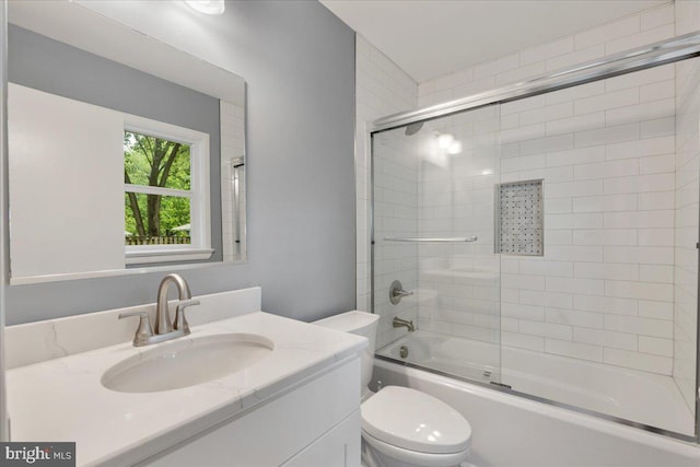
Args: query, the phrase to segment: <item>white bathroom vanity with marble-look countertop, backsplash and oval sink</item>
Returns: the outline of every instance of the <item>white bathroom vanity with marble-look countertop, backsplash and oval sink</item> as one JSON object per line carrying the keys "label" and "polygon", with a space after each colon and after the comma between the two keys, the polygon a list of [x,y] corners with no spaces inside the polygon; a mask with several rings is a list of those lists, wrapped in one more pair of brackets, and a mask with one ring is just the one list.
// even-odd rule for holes
{"label": "white bathroom vanity with marble-look countertop, backsplash and oval sink", "polygon": [[260,312],[259,289],[197,299],[189,336],[139,348],[117,316],[153,305],[9,327],[12,441],[75,442],[80,466],[359,465],[366,339]]}

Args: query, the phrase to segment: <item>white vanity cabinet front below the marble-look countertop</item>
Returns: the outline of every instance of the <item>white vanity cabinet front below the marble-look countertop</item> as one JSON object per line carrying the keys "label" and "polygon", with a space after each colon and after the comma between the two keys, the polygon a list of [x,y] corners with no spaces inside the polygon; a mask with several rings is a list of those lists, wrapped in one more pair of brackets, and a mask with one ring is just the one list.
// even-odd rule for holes
{"label": "white vanity cabinet front below the marble-look countertop", "polygon": [[312,375],[141,466],[358,467],[360,360]]}

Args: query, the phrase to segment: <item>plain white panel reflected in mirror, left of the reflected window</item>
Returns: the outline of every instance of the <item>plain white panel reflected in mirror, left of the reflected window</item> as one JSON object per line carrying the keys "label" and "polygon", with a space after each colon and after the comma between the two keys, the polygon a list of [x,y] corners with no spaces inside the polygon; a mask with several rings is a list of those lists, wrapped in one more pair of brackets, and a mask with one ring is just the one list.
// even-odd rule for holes
{"label": "plain white panel reflected in mirror, left of the reflected window", "polygon": [[8,84],[12,278],[122,269],[124,115]]}

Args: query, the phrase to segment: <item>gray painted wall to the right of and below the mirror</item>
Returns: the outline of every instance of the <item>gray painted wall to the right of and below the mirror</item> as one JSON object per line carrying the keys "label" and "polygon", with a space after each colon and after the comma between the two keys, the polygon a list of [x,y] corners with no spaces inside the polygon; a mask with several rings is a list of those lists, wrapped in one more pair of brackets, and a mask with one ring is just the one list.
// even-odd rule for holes
{"label": "gray painted wall to the right of and below the mirror", "polygon": [[[353,308],[353,32],[315,1],[226,2],[197,21],[199,55],[247,81],[248,261],[183,276],[194,294],[261,285],[265,311],[304,320]],[[9,287],[8,324],[153,302],[161,277]]]}

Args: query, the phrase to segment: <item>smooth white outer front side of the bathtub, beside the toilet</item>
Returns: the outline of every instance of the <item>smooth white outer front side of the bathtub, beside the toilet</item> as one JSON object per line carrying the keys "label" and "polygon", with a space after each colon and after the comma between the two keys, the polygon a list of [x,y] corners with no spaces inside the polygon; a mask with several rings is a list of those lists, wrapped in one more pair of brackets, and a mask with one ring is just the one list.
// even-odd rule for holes
{"label": "smooth white outer front side of the bathtub, beside the toilet", "polygon": [[375,359],[374,382],[444,400],[471,424],[475,467],[698,467],[700,447]]}

